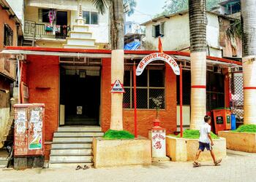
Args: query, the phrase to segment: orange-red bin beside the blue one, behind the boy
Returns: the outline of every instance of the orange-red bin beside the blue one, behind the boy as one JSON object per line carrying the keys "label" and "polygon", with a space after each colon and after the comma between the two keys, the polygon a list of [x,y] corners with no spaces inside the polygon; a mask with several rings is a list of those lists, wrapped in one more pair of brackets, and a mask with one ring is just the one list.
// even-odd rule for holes
{"label": "orange-red bin beside the blue one, behind the boy", "polygon": [[214,113],[215,133],[231,129],[231,111],[229,108],[217,108],[212,110]]}

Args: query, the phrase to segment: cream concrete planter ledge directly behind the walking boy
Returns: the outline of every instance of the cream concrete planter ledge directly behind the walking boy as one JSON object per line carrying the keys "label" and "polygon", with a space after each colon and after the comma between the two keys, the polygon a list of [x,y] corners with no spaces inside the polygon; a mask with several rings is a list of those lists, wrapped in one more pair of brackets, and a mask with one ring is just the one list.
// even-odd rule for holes
{"label": "cream concrete planter ledge directly behind the walking boy", "polygon": [[[224,158],[227,155],[226,140],[219,138],[214,140],[214,153],[216,157]],[[195,159],[195,153],[198,150],[198,139],[176,138],[166,136],[166,155],[172,161],[186,162]],[[211,154],[205,150],[200,154],[199,161],[211,161]]]}

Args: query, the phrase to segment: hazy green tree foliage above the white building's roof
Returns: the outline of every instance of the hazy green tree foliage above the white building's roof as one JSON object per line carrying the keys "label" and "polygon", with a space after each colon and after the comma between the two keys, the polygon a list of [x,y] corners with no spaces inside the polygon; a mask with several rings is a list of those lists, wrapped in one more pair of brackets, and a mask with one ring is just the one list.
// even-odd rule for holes
{"label": "hazy green tree foliage above the white building's roof", "polygon": [[[207,10],[210,10],[213,7],[216,7],[219,2],[222,2],[224,0],[206,0],[206,8]],[[161,15],[170,15],[172,13],[181,12],[186,9],[189,9],[189,1],[188,0],[166,0],[165,6],[162,7],[164,11],[156,17]]]}

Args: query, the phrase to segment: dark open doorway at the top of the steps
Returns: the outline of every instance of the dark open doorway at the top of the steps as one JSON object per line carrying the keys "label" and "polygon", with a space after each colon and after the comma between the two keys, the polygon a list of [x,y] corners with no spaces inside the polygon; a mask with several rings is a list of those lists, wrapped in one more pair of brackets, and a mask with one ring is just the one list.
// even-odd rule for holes
{"label": "dark open doorway at the top of the steps", "polygon": [[99,125],[99,69],[61,66],[60,125]]}

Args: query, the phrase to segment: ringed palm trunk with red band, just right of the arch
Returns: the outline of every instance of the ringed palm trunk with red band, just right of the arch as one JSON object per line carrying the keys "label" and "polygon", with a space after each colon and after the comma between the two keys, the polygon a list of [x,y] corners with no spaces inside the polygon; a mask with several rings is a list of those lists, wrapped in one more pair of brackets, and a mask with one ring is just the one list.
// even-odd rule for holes
{"label": "ringed palm trunk with red band, just right of the arch", "polygon": [[198,130],[206,115],[206,0],[189,0],[191,122]]}

